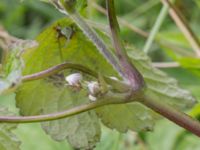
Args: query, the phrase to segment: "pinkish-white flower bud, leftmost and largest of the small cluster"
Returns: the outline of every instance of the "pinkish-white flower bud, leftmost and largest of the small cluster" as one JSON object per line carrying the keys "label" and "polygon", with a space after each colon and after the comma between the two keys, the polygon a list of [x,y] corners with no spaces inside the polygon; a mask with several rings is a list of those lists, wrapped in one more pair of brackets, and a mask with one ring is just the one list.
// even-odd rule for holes
{"label": "pinkish-white flower bud, leftmost and largest of the small cluster", "polygon": [[82,75],[80,73],[73,73],[71,75],[68,75],[65,78],[65,80],[71,86],[77,86],[77,85],[79,85],[82,79],[83,79],[83,77],[82,77]]}

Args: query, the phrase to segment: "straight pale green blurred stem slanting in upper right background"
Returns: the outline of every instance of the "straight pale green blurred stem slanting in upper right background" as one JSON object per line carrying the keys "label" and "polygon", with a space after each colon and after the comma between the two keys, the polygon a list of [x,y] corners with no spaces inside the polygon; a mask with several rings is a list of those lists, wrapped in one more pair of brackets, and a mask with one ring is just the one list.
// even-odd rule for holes
{"label": "straight pale green blurred stem slanting in upper right background", "polygon": [[169,10],[169,6],[168,5],[164,5],[162,7],[162,9],[160,11],[160,14],[157,17],[157,20],[156,20],[156,22],[155,22],[155,24],[154,24],[154,26],[153,26],[150,34],[149,34],[149,37],[148,37],[148,39],[147,39],[147,41],[146,41],[146,43],[144,45],[143,51],[145,53],[148,53],[148,51],[150,50],[151,45],[152,45],[152,43],[153,43],[153,41],[154,41],[154,39],[156,37],[156,34],[158,33],[158,31],[159,31],[159,29],[160,29],[165,17],[167,16],[168,10]]}

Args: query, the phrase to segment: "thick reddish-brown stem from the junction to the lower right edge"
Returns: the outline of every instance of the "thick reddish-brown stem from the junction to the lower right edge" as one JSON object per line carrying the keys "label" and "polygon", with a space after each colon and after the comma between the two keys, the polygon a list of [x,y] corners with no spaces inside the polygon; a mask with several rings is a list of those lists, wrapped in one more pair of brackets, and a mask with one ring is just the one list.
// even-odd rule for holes
{"label": "thick reddish-brown stem from the junction to the lower right edge", "polygon": [[161,114],[165,118],[200,137],[200,123],[187,114],[180,112],[165,103],[162,103],[162,101],[155,101],[145,96],[144,100],[140,102],[155,112]]}

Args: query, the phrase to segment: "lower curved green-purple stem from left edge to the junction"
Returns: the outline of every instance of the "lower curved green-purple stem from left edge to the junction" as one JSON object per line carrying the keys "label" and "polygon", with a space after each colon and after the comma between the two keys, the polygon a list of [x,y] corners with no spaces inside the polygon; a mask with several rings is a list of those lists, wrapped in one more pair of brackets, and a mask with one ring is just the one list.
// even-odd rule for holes
{"label": "lower curved green-purple stem from left edge to the junction", "polygon": [[[62,112],[46,114],[46,115],[38,115],[38,116],[0,116],[0,122],[32,123],[32,122],[58,120],[58,119],[70,117],[73,115],[77,115],[89,110],[93,110],[95,108],[102,107],[104,105],[125,103],[127,97],[129,96],[130,96],[130,93],[125,93],[125,94],[109,93],[95,102],[76,106]],[[130,101],[126,101],[126,102],[130,102]]]}

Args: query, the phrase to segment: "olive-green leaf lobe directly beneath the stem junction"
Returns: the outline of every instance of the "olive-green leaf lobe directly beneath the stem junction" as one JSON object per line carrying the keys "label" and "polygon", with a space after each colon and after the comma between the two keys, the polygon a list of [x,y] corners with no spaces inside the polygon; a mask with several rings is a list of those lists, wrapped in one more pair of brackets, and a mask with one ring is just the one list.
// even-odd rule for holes
{"label": "olive-green leaf lobe directly beneath the stem junction", "polygon": [[139,103],[105,106],[96,112],[106,126],[120,132],[149,131],[154,126],[155,114]]}

